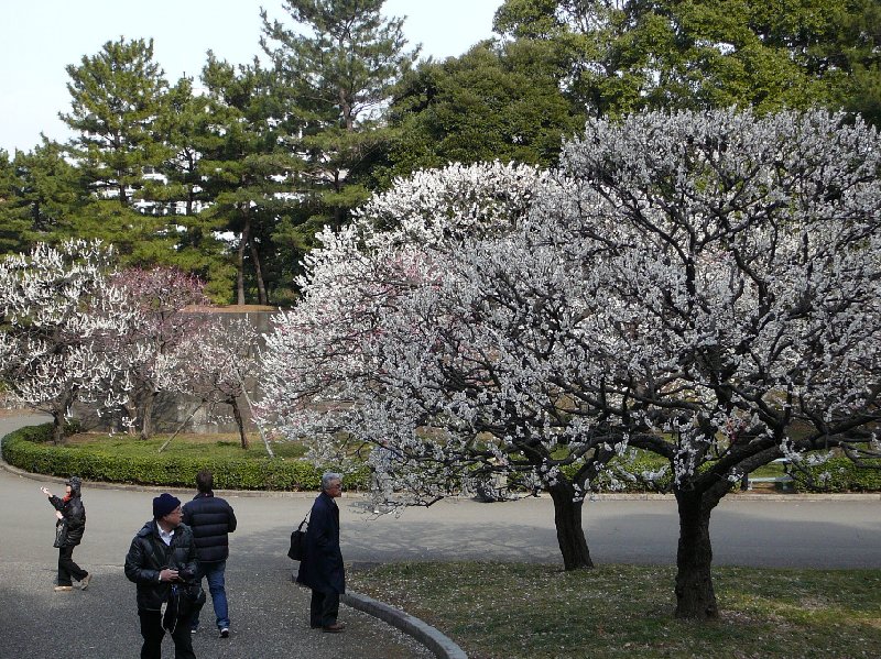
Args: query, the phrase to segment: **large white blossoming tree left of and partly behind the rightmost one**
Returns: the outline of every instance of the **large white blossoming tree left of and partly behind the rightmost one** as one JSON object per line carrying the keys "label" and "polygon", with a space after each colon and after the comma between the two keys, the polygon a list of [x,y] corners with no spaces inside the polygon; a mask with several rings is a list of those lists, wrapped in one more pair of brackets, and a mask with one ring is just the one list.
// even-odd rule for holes
{"label": "large white blossoming tree left of and partly behind the rightmost one", "polygon": [[531,167],[454,165],[399,182],[352,227],[325,232],[303,301],[268,339],[263,404],[289,437],[319,439],[316,459],[385,446],[391,473],[379,482],[391,506],[431,505],[496,476],[512,493],[547,490],[575,569],[592,564],[579,484],[614,452],[565,450],[576,432],[568,402],[523,367],[522,351],[542,350],[542,303],[510,298],[513,282],[505,290],[479,272],[518,270],[530,295],[551,301],[548,277],[568,275],[547,251],[521,254],[515,235],[552,191],[565,194]]}

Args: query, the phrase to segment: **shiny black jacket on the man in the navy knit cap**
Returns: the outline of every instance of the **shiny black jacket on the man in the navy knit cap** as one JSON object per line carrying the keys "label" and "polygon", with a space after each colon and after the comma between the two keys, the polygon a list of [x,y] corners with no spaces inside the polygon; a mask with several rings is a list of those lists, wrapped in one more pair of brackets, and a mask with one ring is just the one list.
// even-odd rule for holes
{"label": "shiny black jacket on the man in the navy knit cap", "polygon": [[182,524],[174,529],[171,547],[159,537],[156,520],[150,520],[131,541],[126,554],[126,576],[138,584],[138,609],[160,611],[168,597],[171,583],[159,573],[171,568],[183,575],[196,573],[196,542],[193,531]]}

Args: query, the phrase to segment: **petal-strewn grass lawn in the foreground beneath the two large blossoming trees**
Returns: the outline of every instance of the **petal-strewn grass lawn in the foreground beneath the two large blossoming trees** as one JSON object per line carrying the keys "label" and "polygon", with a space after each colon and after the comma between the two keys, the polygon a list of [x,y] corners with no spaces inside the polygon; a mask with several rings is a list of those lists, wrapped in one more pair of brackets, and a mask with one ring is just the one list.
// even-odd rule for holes
{"label": "petal-strewn grass lawn in the foreground beneath the two large blossoming trees", "polygon": [[472,659],[881,657],[881,571],[715,568],[721,618],[706,624],[673,617],[674,574],[405,563],[354,571],[349,584],[437,627]]}

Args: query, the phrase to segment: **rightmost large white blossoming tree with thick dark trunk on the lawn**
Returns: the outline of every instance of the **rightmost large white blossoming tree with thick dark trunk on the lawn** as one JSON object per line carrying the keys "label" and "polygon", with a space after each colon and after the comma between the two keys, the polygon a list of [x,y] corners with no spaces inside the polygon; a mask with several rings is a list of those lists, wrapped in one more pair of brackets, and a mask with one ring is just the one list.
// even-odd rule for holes
{"label": "rightmost large white blossoming tree with thick dark trunk on the lawn", "polygon": [[607,248],[565,389],[668,460],[676,614],[716,617],[709,520],[733,483],[881,454],[881,140],[820,111],[651,113],[589,124],[562,163],[580,191],[533,221]]}

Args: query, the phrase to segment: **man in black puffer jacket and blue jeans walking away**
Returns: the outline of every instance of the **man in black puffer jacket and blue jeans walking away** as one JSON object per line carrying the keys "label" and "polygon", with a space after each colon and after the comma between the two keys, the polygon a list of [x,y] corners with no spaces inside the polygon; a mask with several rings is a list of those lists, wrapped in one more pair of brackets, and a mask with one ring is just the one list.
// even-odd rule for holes
{"label": "man in black puffer jacket and blue jeans walking away", "polygon": [[[193,530],[196,539],[198,571],[196,579],[208,578],[214,614],[220,638],[229,637],[229,605],[225,573],[229,558],[229,534],[236,530],[236,513],[226,499],[214,495],[214,476],[207,469],[196,474],[199,493],[184,505],[184,524]],[[199,626],[198,611],[193,615],[192,629]]]}

